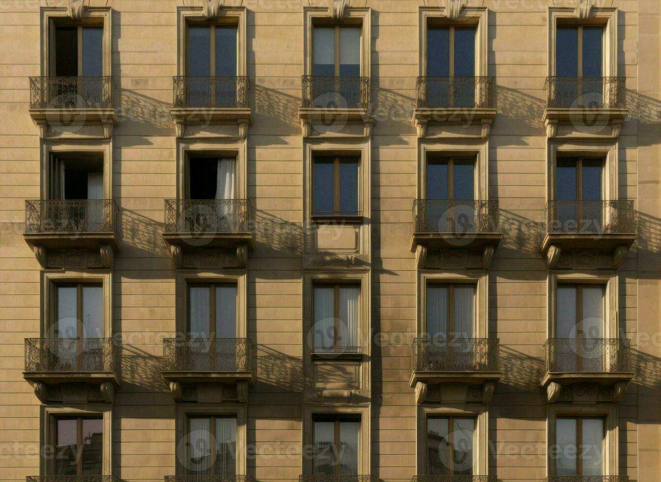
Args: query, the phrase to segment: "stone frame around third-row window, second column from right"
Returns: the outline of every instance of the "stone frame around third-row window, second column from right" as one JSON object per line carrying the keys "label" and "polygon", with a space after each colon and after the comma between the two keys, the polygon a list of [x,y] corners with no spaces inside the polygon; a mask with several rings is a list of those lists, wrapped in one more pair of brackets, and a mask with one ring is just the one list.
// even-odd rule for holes
{"label": "stone frame around third-row window, second column from right", "polygon": [[488,271],[462,270],[428,273],[418,271],[418,332],[426,333],[427,286],[434,284],[464,284],[475,286],[475,320],[473,324],[475,338],[488,338]]}

